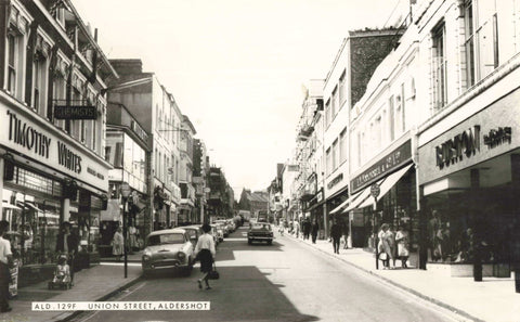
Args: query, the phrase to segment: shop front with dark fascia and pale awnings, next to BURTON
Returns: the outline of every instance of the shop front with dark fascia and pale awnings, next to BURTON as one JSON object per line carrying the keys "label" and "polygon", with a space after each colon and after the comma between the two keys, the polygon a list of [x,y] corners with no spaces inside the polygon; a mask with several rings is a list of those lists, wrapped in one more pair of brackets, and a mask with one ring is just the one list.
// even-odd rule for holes
{"label": "shop front with dark fascia and pale awnings, next to BURTON", "polygon": [[410,136],[394,146],[350,181],[352,193],[341,212],[348,214],[352,247],[374,252],[379,228],[388,223],[394,232],[404,231],[410,250],[417,250],[416,170]]}

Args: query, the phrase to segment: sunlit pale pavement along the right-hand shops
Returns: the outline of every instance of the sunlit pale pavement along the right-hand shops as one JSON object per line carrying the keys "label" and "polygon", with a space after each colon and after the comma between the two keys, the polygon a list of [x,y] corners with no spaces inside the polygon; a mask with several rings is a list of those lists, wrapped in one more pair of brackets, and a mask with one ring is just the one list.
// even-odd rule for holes
{"label": "sunlit pale pavement along the right-hand shops", "polygon": [[[515,292],[515,275],[511,278],[483,278],[474,282],[473,278],[452,278],[434,270],[416,268],[376,270],[375,255],[361,248],[343,249],[334,254],[333,244],[318,240],[315,244],[292,237],[309,247],[327,254],[373,276],[380,279],[390,287],[413,294],[426,301],[440,306],[460,315],[465,320],[518,322],[520,321],[520,294]],[[396,261],[396,266],[400,260]]]}

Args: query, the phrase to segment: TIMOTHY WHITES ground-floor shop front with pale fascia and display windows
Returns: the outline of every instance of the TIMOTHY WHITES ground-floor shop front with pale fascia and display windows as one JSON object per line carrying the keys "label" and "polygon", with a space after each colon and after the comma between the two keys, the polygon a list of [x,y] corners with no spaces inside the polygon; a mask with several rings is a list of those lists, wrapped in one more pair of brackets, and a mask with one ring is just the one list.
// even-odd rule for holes
{"label": "TIMOTHY WHITES ground-floor shop front with pale fascia and display windows", "polygon": [[[107,198],[109,165],[26,107],[0,103],[3,177],[2,220],[27,282],[53,266],[60,223],[69,221],[79,240],[77,268],[99,261],[100,211]],[[22,281],[23,279],[21,279]]]}

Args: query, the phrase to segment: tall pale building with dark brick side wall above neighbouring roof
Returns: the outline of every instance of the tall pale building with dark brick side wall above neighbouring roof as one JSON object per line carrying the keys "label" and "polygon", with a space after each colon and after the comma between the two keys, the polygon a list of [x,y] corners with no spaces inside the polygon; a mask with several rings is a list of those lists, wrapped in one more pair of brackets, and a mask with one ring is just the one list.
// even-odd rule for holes
{"label": "tall pale building with dark brick side wall above neighbouring roof", "polygon": [[[376,67],[393,49],[402,29],[349,31],[343,39],[330,70],[325,78],[323,125],[324,208],[325,230],[328,231],[332,216],[350,195],[349,142],[350,112],[360,101]],[[348,229],[346,216],[336,220]]]}

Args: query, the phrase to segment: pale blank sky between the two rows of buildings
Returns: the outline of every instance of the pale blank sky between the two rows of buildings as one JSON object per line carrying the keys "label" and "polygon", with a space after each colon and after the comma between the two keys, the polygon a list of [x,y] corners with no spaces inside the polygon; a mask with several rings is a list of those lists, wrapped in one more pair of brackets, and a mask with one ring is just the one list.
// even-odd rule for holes
{"label": "pale blank sky between the two rows of buildings", "polygon": [[141,59],[223,168],[235,198],[291,158],[302,85],[349,30],[389,27],[407,0],[73,0],[108,59]]}

